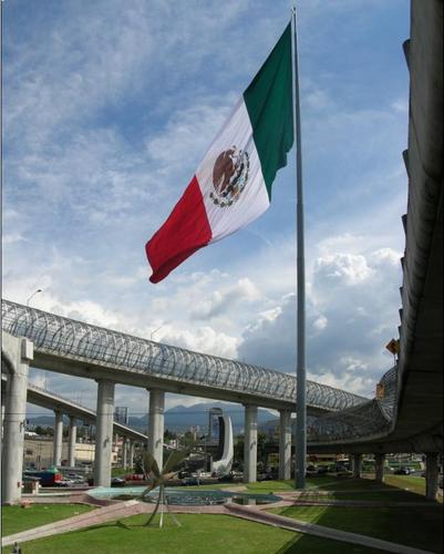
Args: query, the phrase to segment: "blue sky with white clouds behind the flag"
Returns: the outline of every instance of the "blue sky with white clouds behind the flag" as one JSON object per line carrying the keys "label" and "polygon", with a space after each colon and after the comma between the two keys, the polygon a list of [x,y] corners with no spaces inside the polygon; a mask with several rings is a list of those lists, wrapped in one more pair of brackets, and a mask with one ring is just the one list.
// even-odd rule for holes
{"label": "blue sky with white clouds behind the flag", "polygon": [[[369,396],[397,337],[409,3],[299,1],[309,377]],[[31,305],[48,311],[295,371],[293,154],[248,228],[158,285],[144,253],[289,7],[3,2],[4,298],[41,288]],[[94,407],[87,380],[32,379]],[[116,404],[142,416],[146,391],[117,386]]]}

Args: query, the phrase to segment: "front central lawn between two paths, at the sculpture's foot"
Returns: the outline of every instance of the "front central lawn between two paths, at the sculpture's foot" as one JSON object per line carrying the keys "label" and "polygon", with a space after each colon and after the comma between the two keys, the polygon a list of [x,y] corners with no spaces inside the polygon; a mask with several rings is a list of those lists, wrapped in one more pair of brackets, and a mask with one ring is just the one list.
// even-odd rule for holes
{"label": "front central lawn between two paths, at the sculpture's foot", "polygon": [[227,515],[180,514],[175,527],[146,527],[147,515],[22,544],[27,554],[375,554],[380,551],[300,535]]}

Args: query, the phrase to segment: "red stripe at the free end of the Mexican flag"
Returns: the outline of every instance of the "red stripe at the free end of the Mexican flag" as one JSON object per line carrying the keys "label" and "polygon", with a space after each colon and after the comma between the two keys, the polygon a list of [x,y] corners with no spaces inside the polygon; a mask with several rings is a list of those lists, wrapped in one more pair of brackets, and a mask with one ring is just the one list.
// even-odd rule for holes
{"label": "red stripe at the free end of the Mexican flag", "polygon": [[152,283],[164,279],[174,268],[211,239],[197,177],[194,176],[168,219],[146,243],[145,252],[153,268]]}

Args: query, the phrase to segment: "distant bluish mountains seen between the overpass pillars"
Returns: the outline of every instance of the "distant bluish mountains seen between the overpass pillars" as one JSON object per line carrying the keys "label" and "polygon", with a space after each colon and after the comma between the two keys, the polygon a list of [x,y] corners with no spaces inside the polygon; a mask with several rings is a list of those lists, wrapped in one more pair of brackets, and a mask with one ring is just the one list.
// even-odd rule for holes
{"label": "distant bluish mountains seen between the overpass pillars", "polygon": [[[235,433],[240,433],[244,430],[244,413],[245,410],[241,406],[234,406],[227,402],[213,402],[213,403],[198,403],[194,406],[175,406],[165,411],[165,429],[172,432],[188,431],[193,425],[199,425],[202,434],[207,432],[208,429],[208,411],[210,408],[221,408],[225,416],[231,418],[233,430]],[[131,413],[131,411],[130,411]],[[269,427],[276,417],[268,410],[259,408],[258,410],[258,427]],[[39,416],[28,419],[30,424],[33,425],[53,425],[54,418],[51,416]],[[68,417],[64,418],[64,423],[68,424]],[[148,424],[147,416],[135,418],[130,416],[128,425],[145,432]]]}

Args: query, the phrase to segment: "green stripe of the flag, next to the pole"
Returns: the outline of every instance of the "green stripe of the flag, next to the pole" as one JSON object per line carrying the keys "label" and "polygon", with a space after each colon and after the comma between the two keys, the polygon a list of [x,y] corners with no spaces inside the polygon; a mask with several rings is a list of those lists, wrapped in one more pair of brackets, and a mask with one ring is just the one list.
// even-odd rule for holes
{"label": "green stripe of the flag, next to the pole", "polygon": [[291,24],[244,92],[268,196],[293,144]]}

